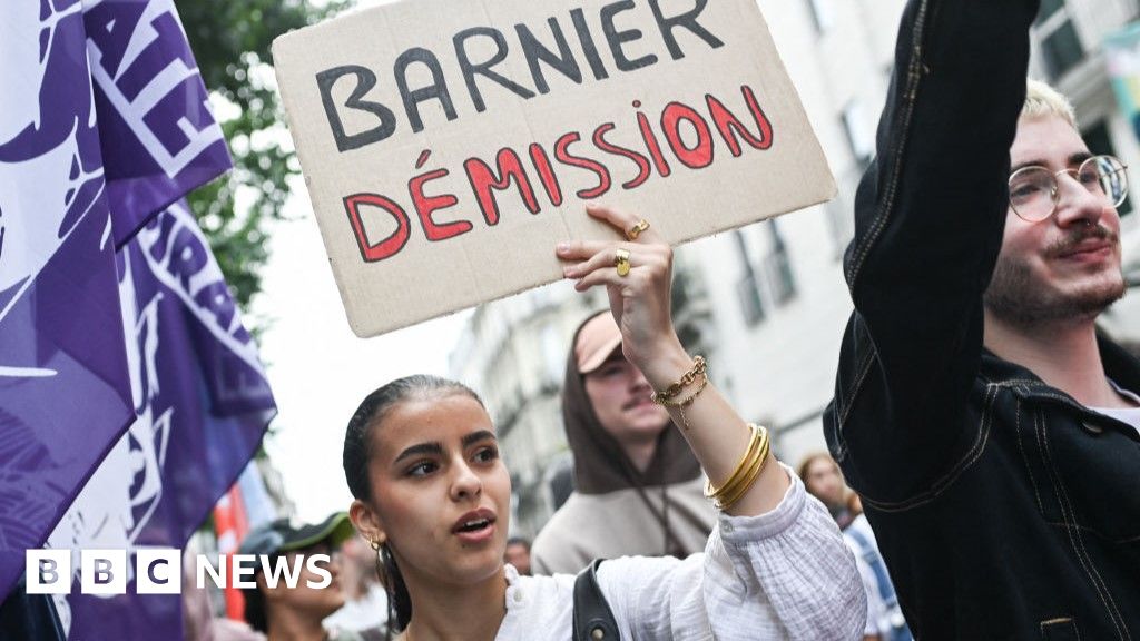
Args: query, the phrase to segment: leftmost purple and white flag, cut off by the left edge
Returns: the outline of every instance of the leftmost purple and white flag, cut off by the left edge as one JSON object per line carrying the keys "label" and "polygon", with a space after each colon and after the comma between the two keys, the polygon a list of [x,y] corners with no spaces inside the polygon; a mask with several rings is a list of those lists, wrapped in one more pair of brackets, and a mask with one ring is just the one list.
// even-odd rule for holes
{"label": "leftmost purple and white flag, cut off by the left edge", "polygon": [[0,21],[0,597],[131,423],[82,5]]}

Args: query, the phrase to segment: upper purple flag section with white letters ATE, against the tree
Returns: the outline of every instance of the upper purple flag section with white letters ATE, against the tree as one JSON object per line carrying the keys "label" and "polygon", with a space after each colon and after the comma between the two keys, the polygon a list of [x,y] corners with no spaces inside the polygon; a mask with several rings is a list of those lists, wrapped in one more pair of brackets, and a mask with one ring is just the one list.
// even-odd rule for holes
{"label": "upper purple flag section with white letters ATE, against the tree", "polygon": [[121,248],[154,212],[229,169],[229,152],[172,0],[85,2],[83,19]]}

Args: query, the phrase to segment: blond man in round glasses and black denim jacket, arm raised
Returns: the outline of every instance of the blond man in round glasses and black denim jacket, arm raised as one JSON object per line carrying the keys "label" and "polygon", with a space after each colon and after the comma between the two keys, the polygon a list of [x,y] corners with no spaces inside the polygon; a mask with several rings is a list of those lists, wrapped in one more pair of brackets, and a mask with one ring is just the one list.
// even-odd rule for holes
{"label": "blond man in round glasses and black denim jacket, arm raised", "polygon": [[918,639],[1140,639],[1125,168],[1026,88],[1035,0],[912,0],[824,431]]}

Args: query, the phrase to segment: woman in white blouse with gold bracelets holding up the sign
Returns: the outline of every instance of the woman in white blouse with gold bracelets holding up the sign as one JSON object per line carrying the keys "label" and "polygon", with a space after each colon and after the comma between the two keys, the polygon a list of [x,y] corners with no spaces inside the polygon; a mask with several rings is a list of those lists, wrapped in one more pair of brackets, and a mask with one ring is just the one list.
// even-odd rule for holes
{"label": "woman in white blouse with gold bracelets holding up the sign", "polygon": [[404,641],[860,638],[866,605],[826,510],[709,383],[673,328],[673,254],[644,220],[588,208],[628,242],[559,244],[564,274],[604,286],[622,351],[658,390],[710,479],[718,528],[687,559],[622,558],[570,575],[503,563],[511,479],[495,425],[462,383],[370,393],[349,422],[350,516],[383,561]]}

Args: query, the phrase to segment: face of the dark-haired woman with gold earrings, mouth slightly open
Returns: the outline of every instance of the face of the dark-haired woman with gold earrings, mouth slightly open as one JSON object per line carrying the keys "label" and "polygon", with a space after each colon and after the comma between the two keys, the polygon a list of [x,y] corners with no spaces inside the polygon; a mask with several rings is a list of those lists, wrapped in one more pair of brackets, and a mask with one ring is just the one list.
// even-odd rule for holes
{"label": "face of the dark-haired woman with gold earrings, mouth slightly open", "polygon": [[490,416],[463,393],[399,403],[369,431],[365,536],[388,541],[409,585],[467,585],[500,571],[511,478]]}

